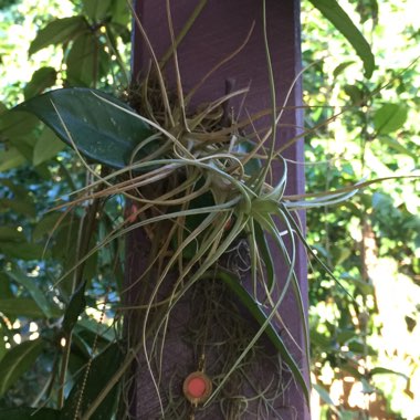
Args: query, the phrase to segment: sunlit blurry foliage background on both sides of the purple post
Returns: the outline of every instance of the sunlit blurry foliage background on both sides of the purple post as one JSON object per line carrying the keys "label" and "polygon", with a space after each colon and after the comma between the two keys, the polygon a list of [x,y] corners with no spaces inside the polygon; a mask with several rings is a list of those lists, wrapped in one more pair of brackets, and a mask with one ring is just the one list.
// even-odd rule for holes
{"label": "sunlit blurry foliage background on both sides of the purple post", "polygon": [[[366,45],[353,42],[364,56],[363,69],[348,41],[313,9],[322,10],[327,1],[303,2],[304,63],[315,63],[304,74],[308,191],[339,188],[365,176],[414,174],[419,165],[420,76],[418,66],[410,66],[419,41],[412,19],[416,2],[342,3],[371,41],[377,67],[367,80],[374,64]],[[118,349],[109,347],[120,333],[111,304],[120,291],[124,245],[87,261],[86,307],[72,304],[72,277],[66,273],[78,258],[74,244],[85,209],[63,220],[62,209],[51,209],[59,198],[69,201],[88,176],[46,126],[30,114],[7,109],[52,87],[96,87],[122,95],[129,78],[125,6],[123,0],[0,3],[0,407],[54,407],[59,396],[49,378],[59,368],[64,312],[75,343],[66,393],[73,385],[76,389],[81,368],[96,346],[107,348],[107,358],[119,357]],[[329,19],[334,23],[336,17]],[[339,118],[322,124],[340,111]],[[314,418],[420,416],[417,191],[418,185],[401,179],[307,214],[309,241],[355,297],[327,280],[313,261]],[[123,219],[123,206],[106,203],[94,241]],[[72,318],[80,314],[74,325]],[[88,384],[93,397],[98,391]],[[103,410],[108,410],[106,403]],[[56,418],[53,410],[40,418],[48,416]]]}

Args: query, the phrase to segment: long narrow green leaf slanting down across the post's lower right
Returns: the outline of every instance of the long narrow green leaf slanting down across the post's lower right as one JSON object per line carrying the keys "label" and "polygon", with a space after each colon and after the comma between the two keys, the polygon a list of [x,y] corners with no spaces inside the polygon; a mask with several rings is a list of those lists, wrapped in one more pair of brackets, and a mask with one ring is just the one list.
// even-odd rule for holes
{"label": "long narrow green leaf slanting down across the post's lower right", "polygon": [[259,304],[254,298],[248,293],[248,291],[242,286],[239,280],[227,271],[218,271],[218,276],[229,286],[229,288],[235,294],[235,296],[241,301],[244,307],[250,312],[253,318],[259,323],[260,326],[265,326],[264,333],[269,337],[270,342],[273,344],[274,348],[280,353],[284,363],[287,365],[292,372],[293,378],[300,385],[306,402],[309,403],[309,389],[301,372],[301,368],[295,361],[292,354],[285,346],[282,337],[277,334],[273,325],[267,322],[267,317],[261,309]]}

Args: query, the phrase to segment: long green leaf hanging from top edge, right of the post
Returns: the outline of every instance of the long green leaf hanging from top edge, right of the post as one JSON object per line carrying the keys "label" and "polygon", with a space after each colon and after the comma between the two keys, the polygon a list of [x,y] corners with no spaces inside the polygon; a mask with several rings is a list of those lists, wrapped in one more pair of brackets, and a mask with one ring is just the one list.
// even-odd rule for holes
{"label": "long green leaf hanging from top edge, right of the post", "polygon": [[366,77],[370,77],[375,70],[375,56],[370,50],[370,45],[348,14],[338,4],[337,0],[309,1],[353,45],[357,55],[364,62]]}

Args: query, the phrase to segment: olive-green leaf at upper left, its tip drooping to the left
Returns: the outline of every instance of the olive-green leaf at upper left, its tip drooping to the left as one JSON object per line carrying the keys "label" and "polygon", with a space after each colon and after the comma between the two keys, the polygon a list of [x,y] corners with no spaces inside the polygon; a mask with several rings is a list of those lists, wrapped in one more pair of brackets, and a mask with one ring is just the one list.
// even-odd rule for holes
{"label": "olive-green leaf at upper left, its tip drooping to the left", "polygon": [[87,29],[88,24],[81,15],[53,20],[38,32],[29,48],[29,54],[32,55],[49,45],[70,42]]}

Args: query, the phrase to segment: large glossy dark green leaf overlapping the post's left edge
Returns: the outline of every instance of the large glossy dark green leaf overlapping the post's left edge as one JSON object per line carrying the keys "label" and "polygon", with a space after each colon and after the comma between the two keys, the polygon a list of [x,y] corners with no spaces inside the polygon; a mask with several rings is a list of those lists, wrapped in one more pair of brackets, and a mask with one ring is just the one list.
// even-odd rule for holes
{"label": "large glossy dark green leaf overlapping the post's left edge", "polygon": [[[123,168],[129,162],[135,147],[148,138],[151,130],[139,118],[112,104],[134,112],[126,104],[105,93],[77,87],[48,92],[24,102],[15,109],[35,114],[62,140],[72,145],[67,129],[75,146],[84,156],[109,167]],[[141,149],[144,155],[138,154],[138,158],[147,156],[155,147],[151,145],[144,147]]]}

